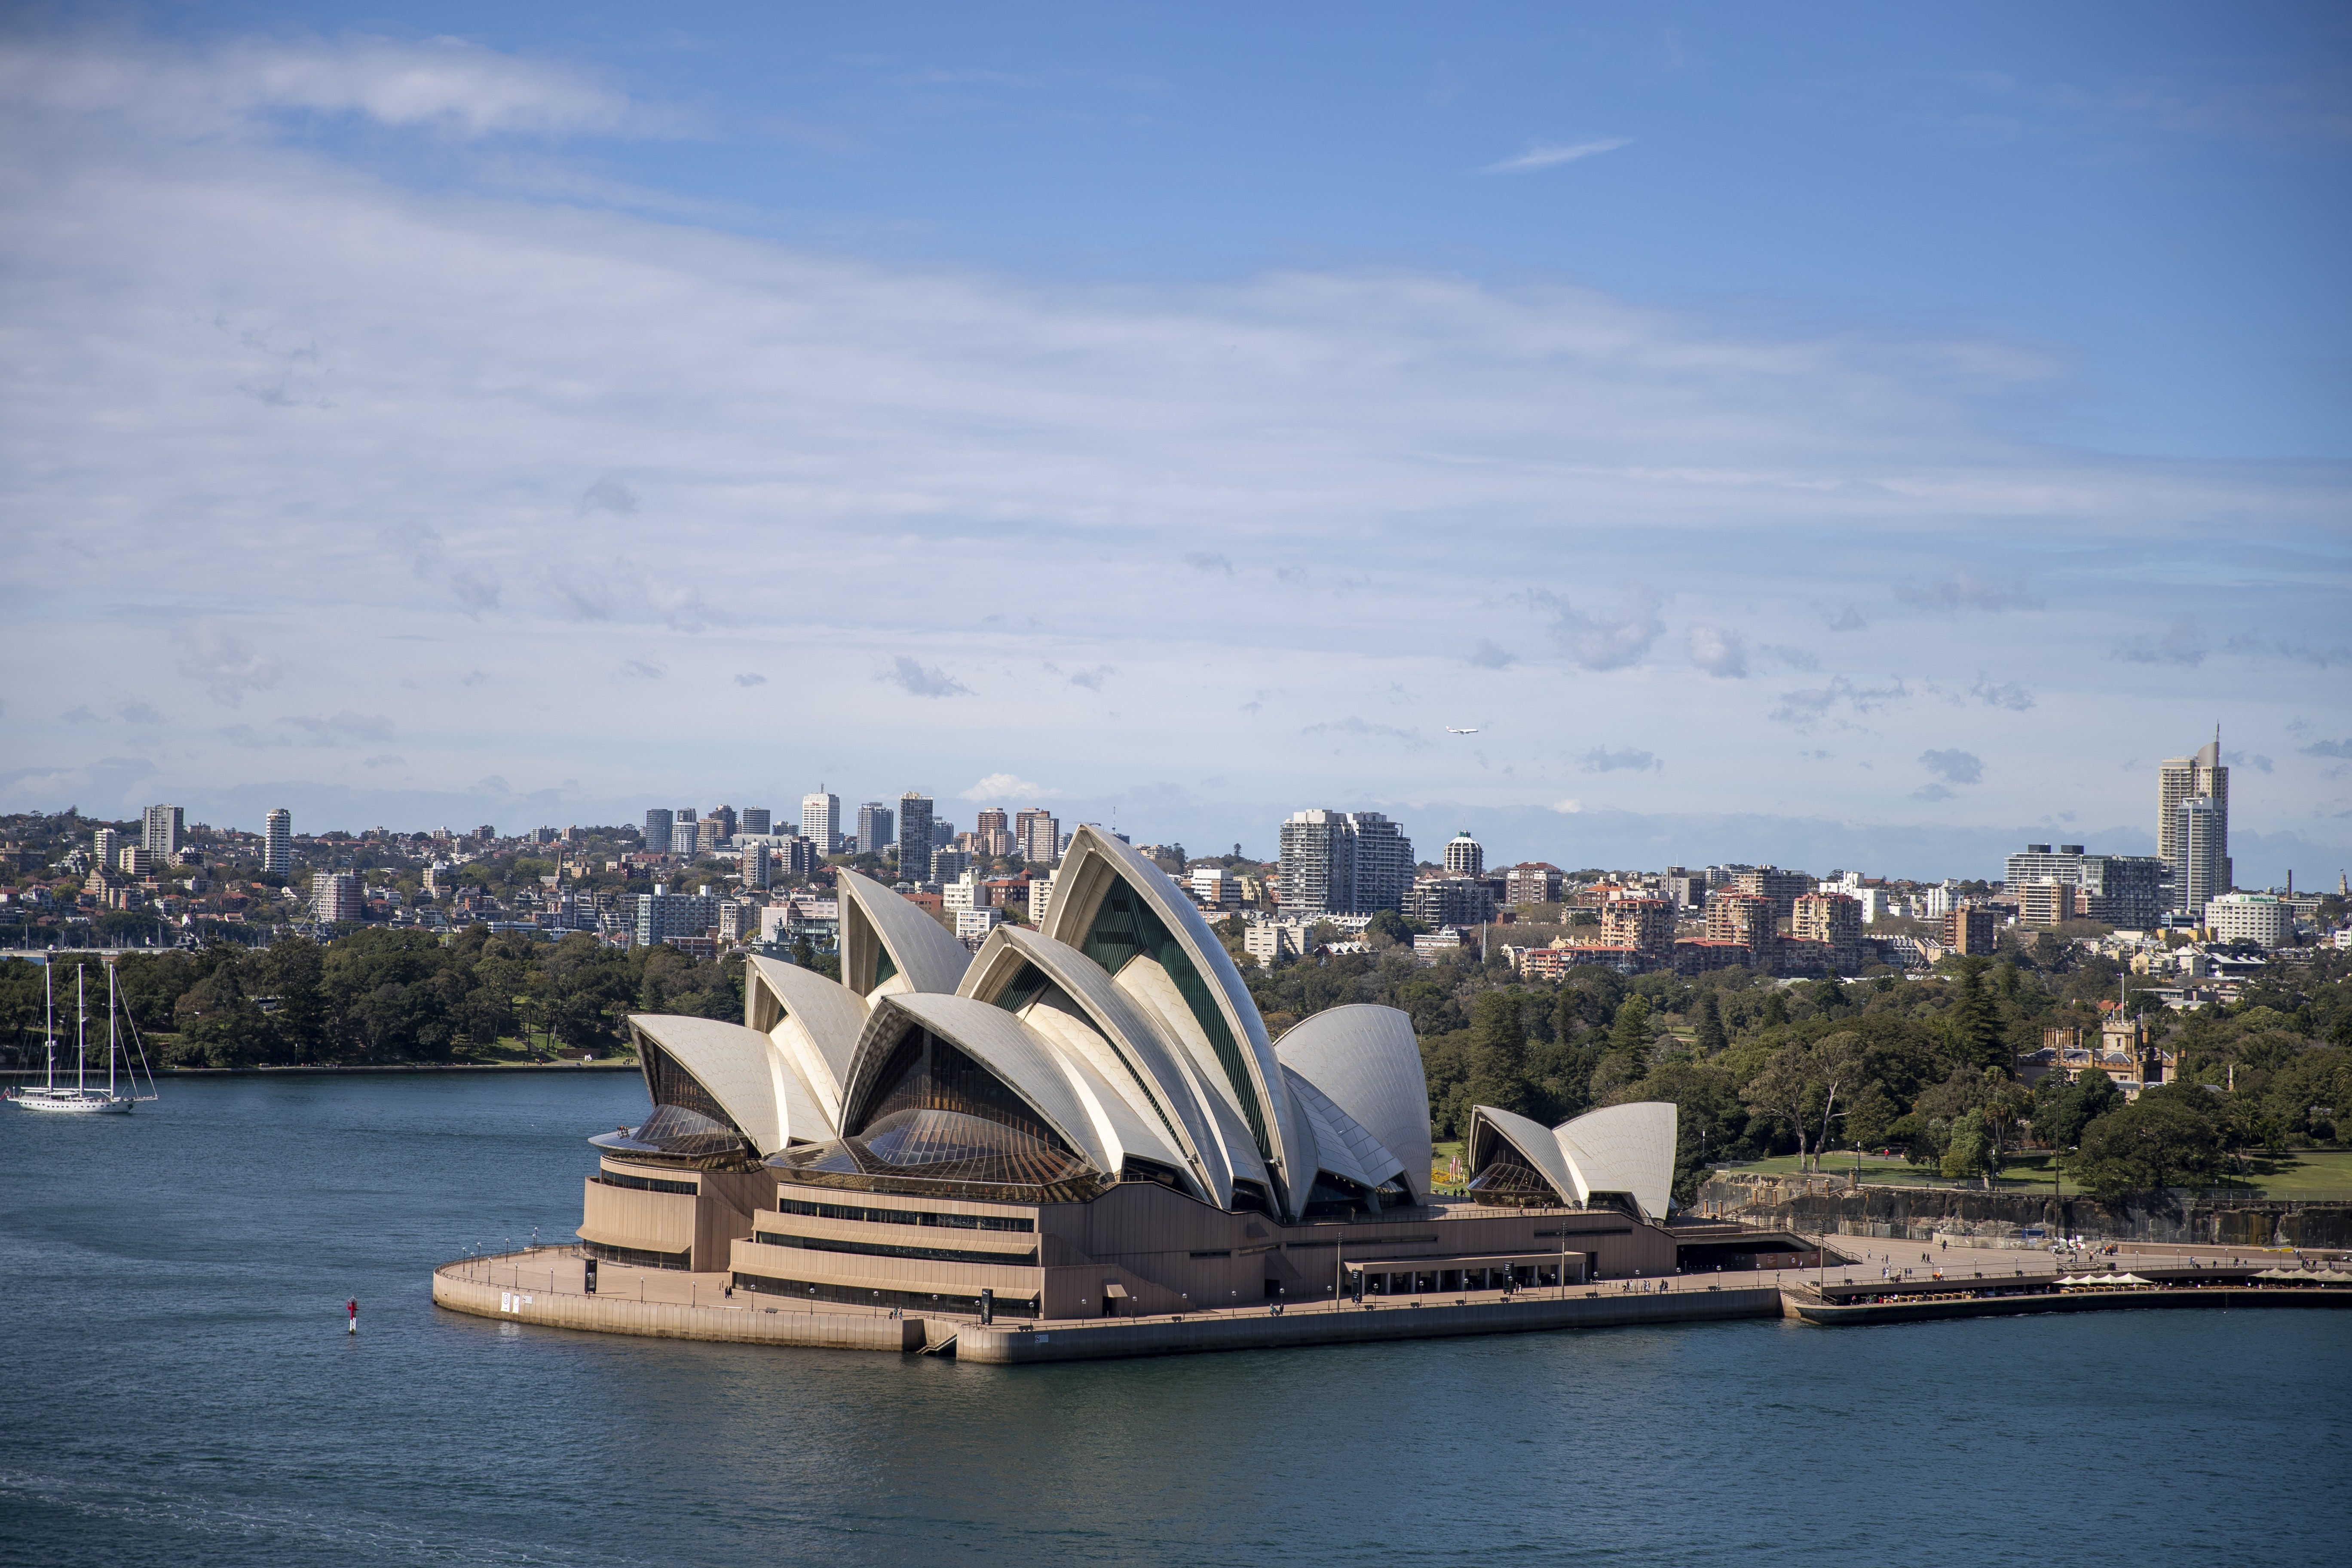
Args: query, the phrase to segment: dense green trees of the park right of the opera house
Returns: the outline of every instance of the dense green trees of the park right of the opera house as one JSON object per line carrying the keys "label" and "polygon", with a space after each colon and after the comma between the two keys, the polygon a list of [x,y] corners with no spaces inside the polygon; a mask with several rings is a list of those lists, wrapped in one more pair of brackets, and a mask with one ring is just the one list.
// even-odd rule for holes
{"label": "dense green trees of the park right of the opera house", "polygon": [[[2169,1013],[2133,994],[2180,1051],[2183,1086],[2133,1105],[2103,1074],[2016,1081],[2051,1025],[2096,1034],[2117,966],[2063,943],[1999,964],[1947,961],[1926,980],[1776,985],[1604,969],[1522,985],[1501,961],[1418,964],[1406,950],[1251,973],[1279,1034],[1348,1001],[1404,1009],[1421,1034],[1430,1121],[1461,1138],[1472,1105],[1545,1124],[1628,1100],[1672,1100],[1689,1201],[1705,1161],[1893,1147],[1947,1175],[1997,1175],[2023,1147],[2056,1150],[2100,1194],[2194,1185],[2232,1152],[2333,1143],[2352,1119],[2352,964],[2274,971],[2239,1004]],[[2286,978],[2293,976],[2293,978]]]}

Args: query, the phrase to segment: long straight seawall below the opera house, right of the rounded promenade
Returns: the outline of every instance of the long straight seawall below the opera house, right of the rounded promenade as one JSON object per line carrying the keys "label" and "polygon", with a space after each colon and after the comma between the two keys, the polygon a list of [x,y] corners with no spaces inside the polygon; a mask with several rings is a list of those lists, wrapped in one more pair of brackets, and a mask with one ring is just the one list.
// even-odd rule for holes
{"label": "long straight seawall below the opera house, right of the rounded promenade", "polygon": [[1550,1328],[1623,1328],[1630,1324],[1703,1324],[1719,1319],[1780,1316],[1778,1286],[1679,1288],[1658,1295],[1583,1295],[1566,1300],[1538,1293],[1465,1307],[1317,1307],[1282,1316],[1183,1316],[1056,1321],[1037,1328],[962,1324],[955,1354],[993,1366],[1040,1361],[1103,1361],[1112,1356],[1190,1356],[1218,1349],[1291,1349],[1298,1345],[1367,1345],[1385,1340],[1442,1340],[1470,1333],[1541,1333]]}

